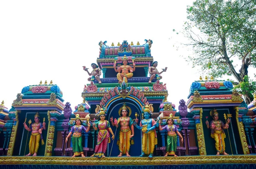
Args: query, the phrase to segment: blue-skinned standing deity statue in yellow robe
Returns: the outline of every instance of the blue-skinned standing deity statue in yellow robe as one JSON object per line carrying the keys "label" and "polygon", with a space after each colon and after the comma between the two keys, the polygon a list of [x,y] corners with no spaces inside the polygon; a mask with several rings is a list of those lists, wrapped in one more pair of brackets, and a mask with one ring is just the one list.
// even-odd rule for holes
{"label": "blue-skinned standing deity statue in yellow robe", "polygon": [[135,120],[134,125],[137,129],[142,130],[142,154],[139,157],[145,157],[148,155],[148,158],[153,157],[154,147],[157,145],[157,133],[156,127],[159,126],[153,118],[151,118],[153,112],[152,104],[149,106],[146,105],[143,107],[142,113],[144,113],[144,119],[140,121],[140,126],[137,125],[138,119]]}

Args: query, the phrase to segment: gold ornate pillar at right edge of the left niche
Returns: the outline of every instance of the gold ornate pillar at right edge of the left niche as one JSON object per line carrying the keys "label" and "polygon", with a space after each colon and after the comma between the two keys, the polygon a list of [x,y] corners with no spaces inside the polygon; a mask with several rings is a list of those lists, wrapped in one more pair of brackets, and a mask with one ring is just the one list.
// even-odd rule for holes
{"label": "gold ornate pillar at right edge of the left niche", "polygon": [[48,111],[48,130],[47,130],[47,139],[46,139],[46,147],[44,156],[52,156],[52,146],[53,146],[53,139],[54,139],[54,133],[55,133],[55,125],[58,121],[58,117],[61,116],[61,113],[57,111]]}

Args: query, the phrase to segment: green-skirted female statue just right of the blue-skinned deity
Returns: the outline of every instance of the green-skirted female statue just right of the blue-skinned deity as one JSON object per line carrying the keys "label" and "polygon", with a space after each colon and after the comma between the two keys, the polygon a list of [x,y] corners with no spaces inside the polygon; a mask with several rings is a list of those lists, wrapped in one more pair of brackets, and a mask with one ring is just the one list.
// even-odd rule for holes
{"label": "green-skirted female statue just right of the blue-skinned deity", "polygon": [[[161,121],[157,119],[157,123],[161,123]],[[159,130],[167,130],[167,146],[165,157],[167,157],[168,155],[177,157],[177,155],[175,155],[177,149],[177,135],[179,135],[179,137],[181,138],[181,143],[183,143],[183,137],[178,131],[177,126],[174,124],[172,114],[170,114],[170,116],[167,118],[167,123],[168,124],[163,128],[161,125],[159,125]],[[177,135],[175,132],[177,133]]]}

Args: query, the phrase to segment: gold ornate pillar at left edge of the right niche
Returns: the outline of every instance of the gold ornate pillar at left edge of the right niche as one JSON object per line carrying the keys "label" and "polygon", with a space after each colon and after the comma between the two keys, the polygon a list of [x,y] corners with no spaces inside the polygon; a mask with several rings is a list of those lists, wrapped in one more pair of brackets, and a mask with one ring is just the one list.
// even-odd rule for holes
{"label": "gold ornate pillar at left edge of the right niche", "polygon": [[195,119],[196,135],[198,139],[198,150],[199,155],[206,155],[205,141],[204,141],[204,130],[202,123],[203,109],[192,109],[195,111],[193,119]]}

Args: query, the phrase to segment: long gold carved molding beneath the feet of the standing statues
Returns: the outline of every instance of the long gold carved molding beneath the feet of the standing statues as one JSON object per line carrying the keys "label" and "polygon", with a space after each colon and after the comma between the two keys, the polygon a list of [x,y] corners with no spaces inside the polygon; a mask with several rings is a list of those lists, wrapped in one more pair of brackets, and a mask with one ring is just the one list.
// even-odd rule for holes
{"label": "long gold carved molding beneath the feet of the standing statues", "polygon": [[256,155],[214,155],[180,157],[0,157],[0,164],[54,164],[54,165],[172,165],[172,164],[256,164]]}

